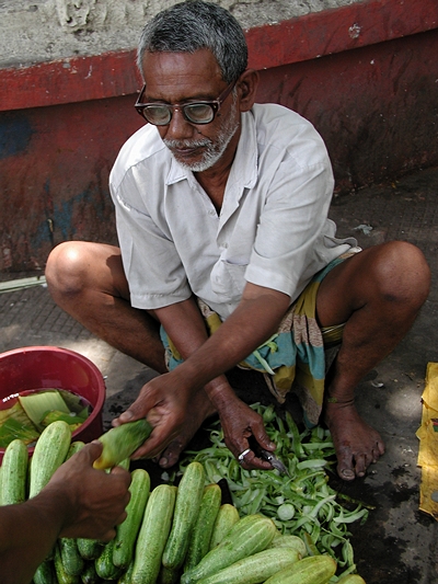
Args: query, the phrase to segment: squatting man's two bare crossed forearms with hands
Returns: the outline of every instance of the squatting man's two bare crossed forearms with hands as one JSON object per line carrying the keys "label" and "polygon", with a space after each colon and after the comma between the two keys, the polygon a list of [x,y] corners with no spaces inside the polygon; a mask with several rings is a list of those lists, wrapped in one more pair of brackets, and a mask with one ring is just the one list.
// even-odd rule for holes
{"label": "squatting man's two bare crossed forearms with hands", "polygon": [[[287,295],[247,284],[237,310],[209,337],[193,299],[155,311],[185,360],[148,382],[136,402],[115,421],[118,424],[148,415],[155,426],[135,456],[159,455],[182,427],[191,397],[203,390],[218,411],[227,446],[235,456],[249,447],[251,435],[261,446],[272,449],[274,445],[260,416],[237,398],[223,374],[277,330],[288,306]],[[268,468],[255,460],[253,453],[245,460],[257,468]]]}

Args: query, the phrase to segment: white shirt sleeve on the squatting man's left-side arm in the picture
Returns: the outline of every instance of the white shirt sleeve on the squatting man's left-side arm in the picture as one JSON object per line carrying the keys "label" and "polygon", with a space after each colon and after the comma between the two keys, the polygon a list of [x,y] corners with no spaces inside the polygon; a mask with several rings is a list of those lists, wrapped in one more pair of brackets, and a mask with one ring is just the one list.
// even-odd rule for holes
{"label": "white shirt sleeve on the squatting man's left-side arm in the picture", "polygon": [[111,191],[131,305],[155,309],[186,300],[192,290],[170,233],[160,229],[145,205],[139,204],[135,181],[126,182],[124,188],[129,188],[129,199],[137,201],[139,208],[124,199],[123,188],[111,186]]}

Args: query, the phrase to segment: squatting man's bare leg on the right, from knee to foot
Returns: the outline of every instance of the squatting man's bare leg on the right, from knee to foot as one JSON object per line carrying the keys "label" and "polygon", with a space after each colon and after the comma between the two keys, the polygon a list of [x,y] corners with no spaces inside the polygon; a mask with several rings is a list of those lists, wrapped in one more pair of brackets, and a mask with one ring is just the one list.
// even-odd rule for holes
{"label": "squatting man's bare leg on the right, from knee to foot", "polygon": [[346,323],[327,377],[324,420],[345,480],[362,477],[384,453],[383,440],[358,415],[355,388],[399,344],[425,302],[430,273],[423,253],[405,242],[369,248],[336,266],[316,298],[322,327]]}

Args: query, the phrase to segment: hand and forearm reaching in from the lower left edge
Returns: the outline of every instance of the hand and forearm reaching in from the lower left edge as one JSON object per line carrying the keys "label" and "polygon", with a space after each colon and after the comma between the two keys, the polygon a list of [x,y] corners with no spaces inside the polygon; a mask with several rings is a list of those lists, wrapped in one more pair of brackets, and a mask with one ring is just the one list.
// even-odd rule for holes
{"label": "hand and forearm reaching in from the lower left edge", "polygon": [[48,484],[20,505],[0,507],[2,584],[27,584],[58,537],[110,541],[126,518],[130,474],[93,469],[102,443],[85,445],[61,465]]}

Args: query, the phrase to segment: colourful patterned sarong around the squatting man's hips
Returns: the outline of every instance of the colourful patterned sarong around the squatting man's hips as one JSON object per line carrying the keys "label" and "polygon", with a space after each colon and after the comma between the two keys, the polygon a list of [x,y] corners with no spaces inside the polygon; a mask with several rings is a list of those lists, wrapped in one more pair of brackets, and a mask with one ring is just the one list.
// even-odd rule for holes
{"label": "colourful patterned sarong around the squatting man's hips", "polygon": [[[280,322],[278,331],[238,366],[264,374],[269,391],[284,403],[293,390],[303,409],[304,422],[318,424],[324,397],[324,379],[342,342],[344,324],[321,329],[315,317],[316,294],[321,282],[336,265],[360,251],[333,260],[318,272]],[[203,300],[197,300],[209,334],[221,324],[219,316]],[[161,341],[165,348],[166,366],[174,369],[182,363],[181,355],[161,328]]]}

